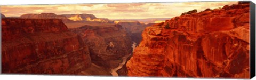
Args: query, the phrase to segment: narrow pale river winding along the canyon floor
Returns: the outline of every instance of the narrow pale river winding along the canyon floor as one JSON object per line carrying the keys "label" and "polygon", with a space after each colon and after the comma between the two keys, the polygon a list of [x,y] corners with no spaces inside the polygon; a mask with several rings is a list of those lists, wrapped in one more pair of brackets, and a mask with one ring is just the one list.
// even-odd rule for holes
{"label": "narrow pale river winding along the canyon floor", "polygon": [[[134,51],[134,49],[135,49],[135,47],[136,47],[136,44],[137,44],[137,43],[133,42],[133,44],[132,44],[132,52]],[[123,67],[123,65],[124,65],[125,62],[127,61],[127,58],[130,57],[130,55],[131,55],[131,54],[125,55],[125,56],[122,58],[122,59],[123,59],[122,63],[119,63],[119,66],[118,66],[118,67],[116,67],[116,68],[114,68],[114,69],[111,69],[111,74],[112,74],[112,76],[118,76],[118,74],[117,74],[116,71],[119,70],[119,69],[121,69],[121,68]]]}

